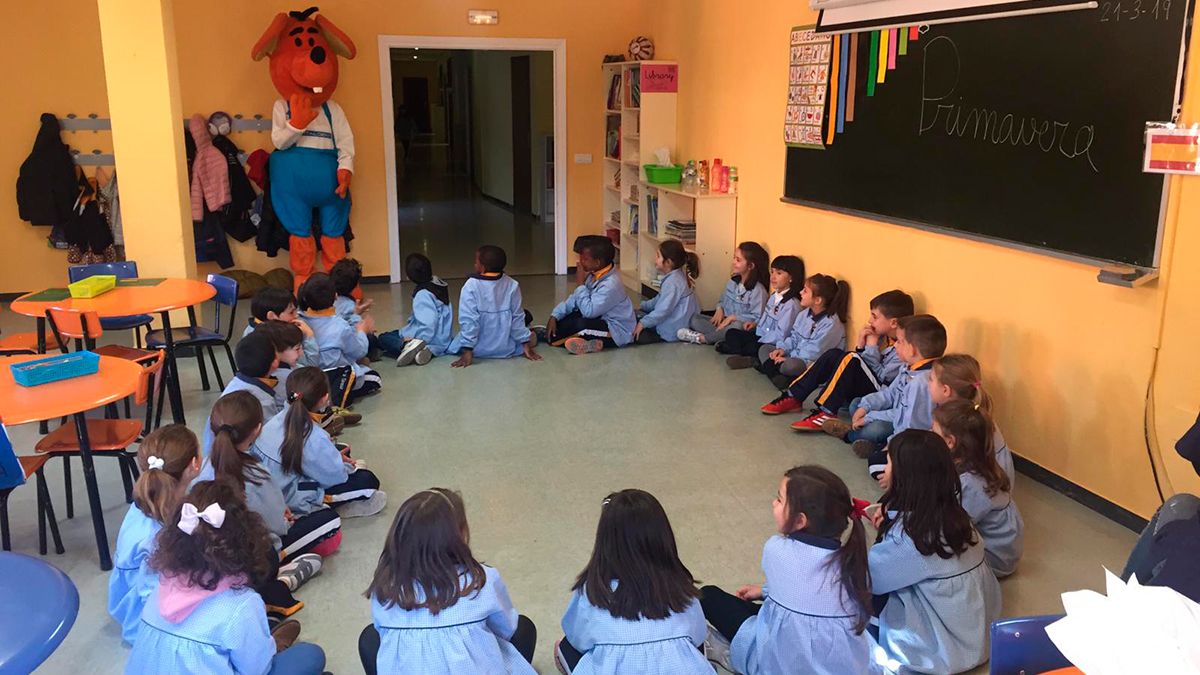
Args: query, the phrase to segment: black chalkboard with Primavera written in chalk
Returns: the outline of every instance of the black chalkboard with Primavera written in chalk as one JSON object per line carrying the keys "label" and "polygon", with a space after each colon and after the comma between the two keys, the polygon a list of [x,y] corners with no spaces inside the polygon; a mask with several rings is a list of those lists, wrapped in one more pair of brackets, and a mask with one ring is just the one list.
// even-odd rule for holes
{"label": "black chalkboard with Primavera written in chalk", "polygon": [[[1174,117],[1184,0],[931,25],[824,150],[787,148],[785,201],[1157,265],[1165,181],[1145,124]],[[828,114],[827,106],[827,114]]]}

